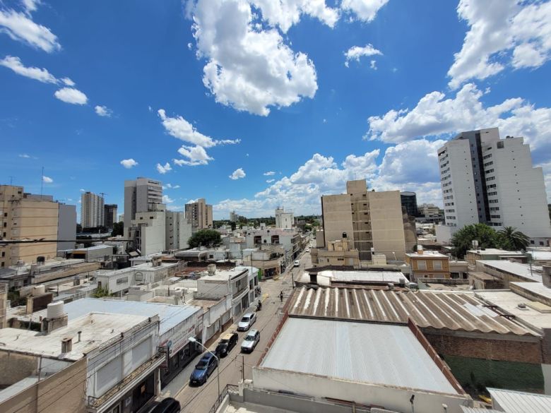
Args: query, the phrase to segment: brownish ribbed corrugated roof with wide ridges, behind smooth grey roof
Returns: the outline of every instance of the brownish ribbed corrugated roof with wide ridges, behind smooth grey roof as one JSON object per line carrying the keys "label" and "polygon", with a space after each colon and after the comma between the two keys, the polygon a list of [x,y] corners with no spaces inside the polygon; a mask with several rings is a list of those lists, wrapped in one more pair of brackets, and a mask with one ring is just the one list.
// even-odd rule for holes
{"label": "brownish ribbed corrugated roof with wide ridges, behind smooth grey roof", "polygon": [[364,288],[298,290],[291,316],[345,318],[405,323],[411,318],[421,328],[538,335],[499,316],[473,294],[457,292],[398,292]]}

